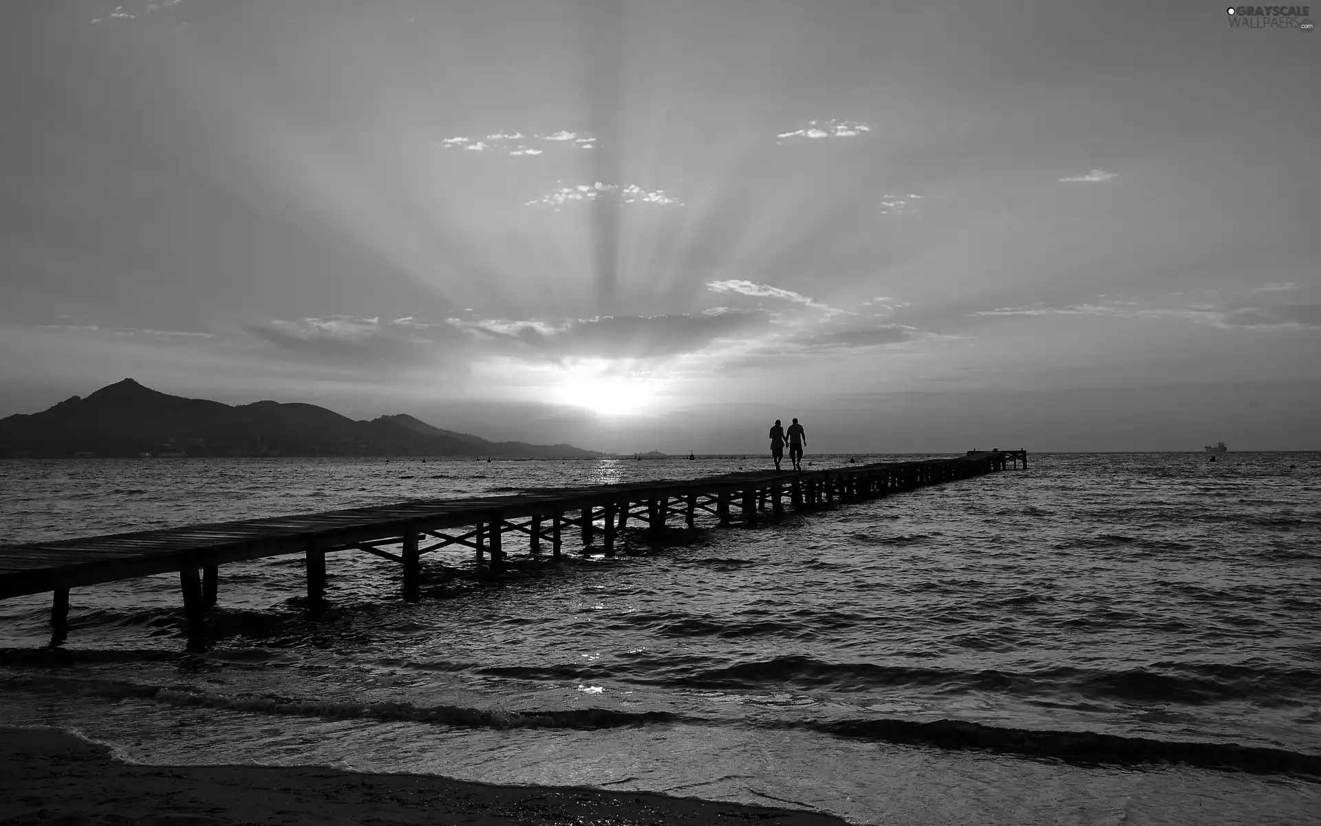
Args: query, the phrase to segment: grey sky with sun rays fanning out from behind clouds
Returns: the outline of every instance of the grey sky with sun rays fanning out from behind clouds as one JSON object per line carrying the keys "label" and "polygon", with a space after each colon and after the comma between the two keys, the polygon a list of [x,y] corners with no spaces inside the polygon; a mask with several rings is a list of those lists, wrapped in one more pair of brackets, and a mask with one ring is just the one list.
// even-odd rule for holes
{"label": "grey sky with sun rays fanning out from behind clouds", "polygon": [[808,452],[1321,448],[1314,32],[1185,0],[4,13],[0,415],[132,377],[625,453],[794,416]]}

